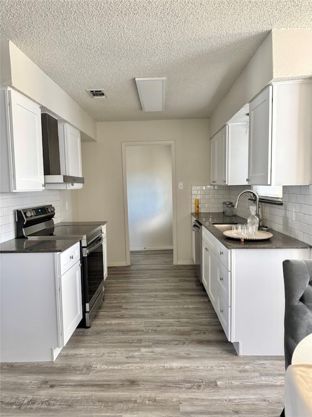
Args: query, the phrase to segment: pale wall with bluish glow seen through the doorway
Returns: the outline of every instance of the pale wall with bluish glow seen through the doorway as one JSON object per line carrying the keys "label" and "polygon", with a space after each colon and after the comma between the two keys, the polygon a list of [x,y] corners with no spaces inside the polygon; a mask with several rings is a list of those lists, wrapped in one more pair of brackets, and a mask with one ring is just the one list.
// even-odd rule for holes
{"label": "pale wall with bluish glow seen through the doorway", "polygon": [[171,146],[125,149],[130,250],[172,249]]}

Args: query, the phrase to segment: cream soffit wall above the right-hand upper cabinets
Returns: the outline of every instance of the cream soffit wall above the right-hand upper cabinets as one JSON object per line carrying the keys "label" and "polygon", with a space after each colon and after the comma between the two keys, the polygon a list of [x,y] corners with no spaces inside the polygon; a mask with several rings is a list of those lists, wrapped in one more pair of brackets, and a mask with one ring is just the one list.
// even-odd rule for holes
{"label": "cream soffit wall above the right-hand upper cabinets", "polygon": [[272,30],[210,117],[210,137],[269,83],[307,77],[312,77],[312,29]]}

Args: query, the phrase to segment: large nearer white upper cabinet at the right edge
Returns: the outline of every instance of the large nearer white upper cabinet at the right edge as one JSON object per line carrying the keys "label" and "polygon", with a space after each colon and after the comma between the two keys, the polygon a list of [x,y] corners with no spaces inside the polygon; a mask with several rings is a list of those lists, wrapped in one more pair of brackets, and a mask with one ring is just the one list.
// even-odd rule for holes
{"label": "large nearer white upper cabinet at the right edge", "polygon": [[312,83],[277,83],[249,106],[248,183],[312,183]]}

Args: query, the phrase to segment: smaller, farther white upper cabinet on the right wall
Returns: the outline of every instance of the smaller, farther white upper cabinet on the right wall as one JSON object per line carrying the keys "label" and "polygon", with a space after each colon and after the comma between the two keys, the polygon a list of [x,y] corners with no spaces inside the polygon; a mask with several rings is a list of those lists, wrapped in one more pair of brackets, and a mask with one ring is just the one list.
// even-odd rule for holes
{"label": "smaller, farther white upper cabinet on the right wall", "polygon": [[248,135],[246,123],[223,126],[211,139],[210,183],[246,184],[248,173]]}

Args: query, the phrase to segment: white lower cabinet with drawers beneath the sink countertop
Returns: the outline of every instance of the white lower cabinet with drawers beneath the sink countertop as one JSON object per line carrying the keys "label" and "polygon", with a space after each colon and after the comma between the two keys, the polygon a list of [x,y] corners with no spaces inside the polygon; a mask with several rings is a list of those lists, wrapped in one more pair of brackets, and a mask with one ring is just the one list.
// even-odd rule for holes
{"label": "white lower cabinet with drawers beneath the sink countertop", "polygon": [[227,249],[203,227],[203,285],[238,355],[284,355],[285,259],[311,249]]}

